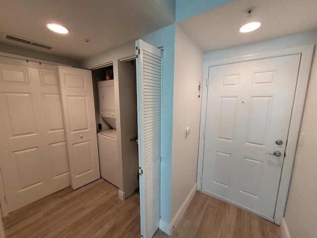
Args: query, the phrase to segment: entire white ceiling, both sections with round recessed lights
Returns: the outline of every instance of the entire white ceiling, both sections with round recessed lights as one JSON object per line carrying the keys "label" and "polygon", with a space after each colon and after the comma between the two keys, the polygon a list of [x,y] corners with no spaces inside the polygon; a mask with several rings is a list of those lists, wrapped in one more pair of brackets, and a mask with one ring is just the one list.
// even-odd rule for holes
{"label": "entire white ceiling, both sections with round recessed lights", "polygon": [[[244,11],[256,7],[250,19]],[[232,0],[177,24],[204,52],[254,43],[317,29],[317,0]],[[251,33],[239,27],[251,20],[263,26]],[[61,23],[68,35],[48,30],[47,22]],[[156,0],[1,0],[0,32],[53,46],[44,50],[0,42],[74,60],[83,60],[135,40],[173,20]],[[91,43],[85,45],[84,39]]]}

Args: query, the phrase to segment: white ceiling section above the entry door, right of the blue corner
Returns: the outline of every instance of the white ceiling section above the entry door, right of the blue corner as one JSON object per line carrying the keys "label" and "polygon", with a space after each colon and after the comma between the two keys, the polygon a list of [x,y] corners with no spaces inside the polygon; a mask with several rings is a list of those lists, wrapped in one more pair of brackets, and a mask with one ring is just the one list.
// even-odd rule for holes
{"label": "white ceiling section above the entry door, right of the blue corner", "polygon": [[[247,19],[244,11],[256,7]],[[249,21],[262,27],[250,33],[239,28]],[[232,0],[177,23],[204,52],[235,47],[317,29],[317,0]]]}

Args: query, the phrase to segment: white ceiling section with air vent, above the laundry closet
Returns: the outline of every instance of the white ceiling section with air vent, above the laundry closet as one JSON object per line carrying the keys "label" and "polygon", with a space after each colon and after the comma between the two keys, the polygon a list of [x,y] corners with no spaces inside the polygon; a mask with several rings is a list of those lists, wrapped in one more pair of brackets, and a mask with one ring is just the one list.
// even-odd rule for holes
{"label": "white ceiling section with air vent, above the laundry closet", "polygon": [[[60,35],[45,23],[70,29]],[[43,50],[0,39],[6,44],[82,60],[173,23],[155,0],[1,0],[0,33],[53,46]],[[84,39],[90,39],[87,46]]]}

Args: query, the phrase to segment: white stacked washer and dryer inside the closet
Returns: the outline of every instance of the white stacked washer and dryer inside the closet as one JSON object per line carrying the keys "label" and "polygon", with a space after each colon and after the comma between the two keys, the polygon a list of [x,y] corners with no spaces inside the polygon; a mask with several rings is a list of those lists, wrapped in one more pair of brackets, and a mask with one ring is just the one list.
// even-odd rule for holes
{"label": "white stacked washer and dryer inside the closet", "polygon": [[101,177],[119,187],[114,80],[98,82],[100,117],[112,127],[97,134]]}

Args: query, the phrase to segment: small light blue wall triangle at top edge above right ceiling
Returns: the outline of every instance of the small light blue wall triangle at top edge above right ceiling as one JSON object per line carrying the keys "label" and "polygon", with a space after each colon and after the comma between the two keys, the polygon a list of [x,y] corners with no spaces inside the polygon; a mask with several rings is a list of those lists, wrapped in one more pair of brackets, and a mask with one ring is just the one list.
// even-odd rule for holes
{"label": "small light blue wall triangle at top edge above right ceiling", "polygon": [[176,0],[176,22],[208,11],[231,0]]}

